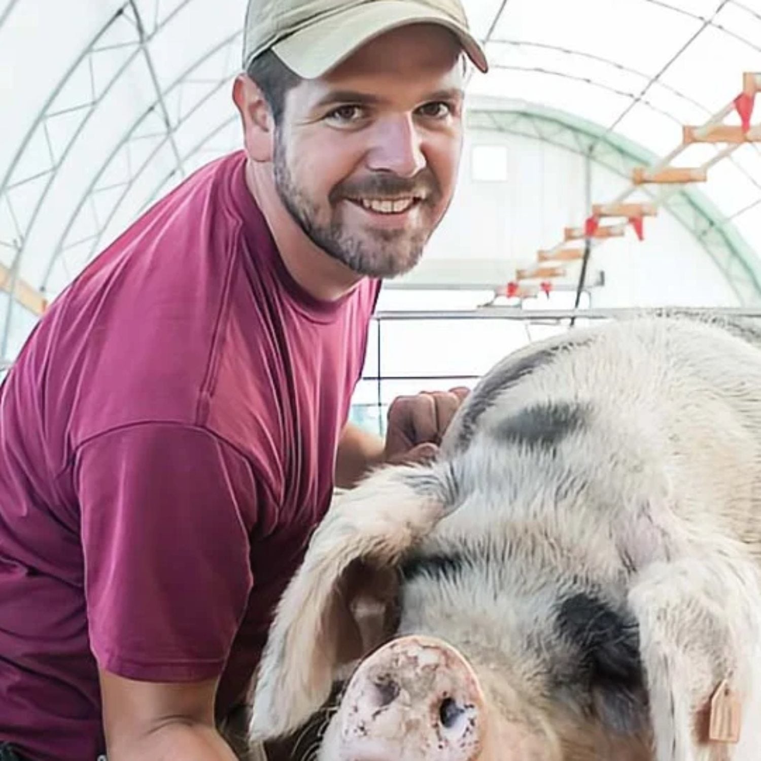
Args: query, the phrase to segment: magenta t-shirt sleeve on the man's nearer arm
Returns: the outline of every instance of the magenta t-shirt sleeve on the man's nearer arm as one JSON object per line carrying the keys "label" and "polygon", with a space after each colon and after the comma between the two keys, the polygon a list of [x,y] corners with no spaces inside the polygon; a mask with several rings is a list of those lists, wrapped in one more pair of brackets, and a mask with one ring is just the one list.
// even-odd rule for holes
{"label": "magenta t-shirt sleeve on the man's nearer arm", "polygon": [[78,448],[85,594],[98,664],[130,679],[221,673],[253,584],[262,484],[230,444],[149,423]]}

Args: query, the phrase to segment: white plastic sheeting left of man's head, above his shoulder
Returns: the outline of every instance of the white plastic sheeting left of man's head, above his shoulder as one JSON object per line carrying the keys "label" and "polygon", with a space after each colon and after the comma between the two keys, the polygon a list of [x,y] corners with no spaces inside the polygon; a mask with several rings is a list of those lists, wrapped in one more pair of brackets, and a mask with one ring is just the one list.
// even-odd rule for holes
{"label": "white plastic sheeting left of man's head, above his shoulder", "polygon": [[152,199],[240,145],[231,78],[244,2],[20,0],[6,11],[0,261],[21,242],[19,274],[55,295]]}

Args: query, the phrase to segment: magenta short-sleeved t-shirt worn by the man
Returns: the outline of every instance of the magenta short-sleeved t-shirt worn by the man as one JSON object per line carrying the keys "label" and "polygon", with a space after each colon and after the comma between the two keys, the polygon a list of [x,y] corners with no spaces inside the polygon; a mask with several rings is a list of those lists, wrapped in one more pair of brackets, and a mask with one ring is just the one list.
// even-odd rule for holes
{"label": "magenta short-sleeved t-shirt worn by the man", "polygon": [[244,154],[202,168],[50,307],[0,390],[0,740],[103,753],[97,664],[240,699],[333,489],[379,282],[282,264]]}

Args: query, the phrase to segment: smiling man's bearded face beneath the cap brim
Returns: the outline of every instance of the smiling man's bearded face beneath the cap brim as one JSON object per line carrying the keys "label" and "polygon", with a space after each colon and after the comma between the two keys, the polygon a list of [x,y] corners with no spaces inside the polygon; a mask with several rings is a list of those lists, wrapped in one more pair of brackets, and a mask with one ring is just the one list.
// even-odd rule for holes
{"label": "smiling man's bearded face beneath the cap brim", "polygon": [[288,93],[275,185],[318,247],[359,275],[416,265],[454,193],[462,88],[454,37],[415,25]]}

